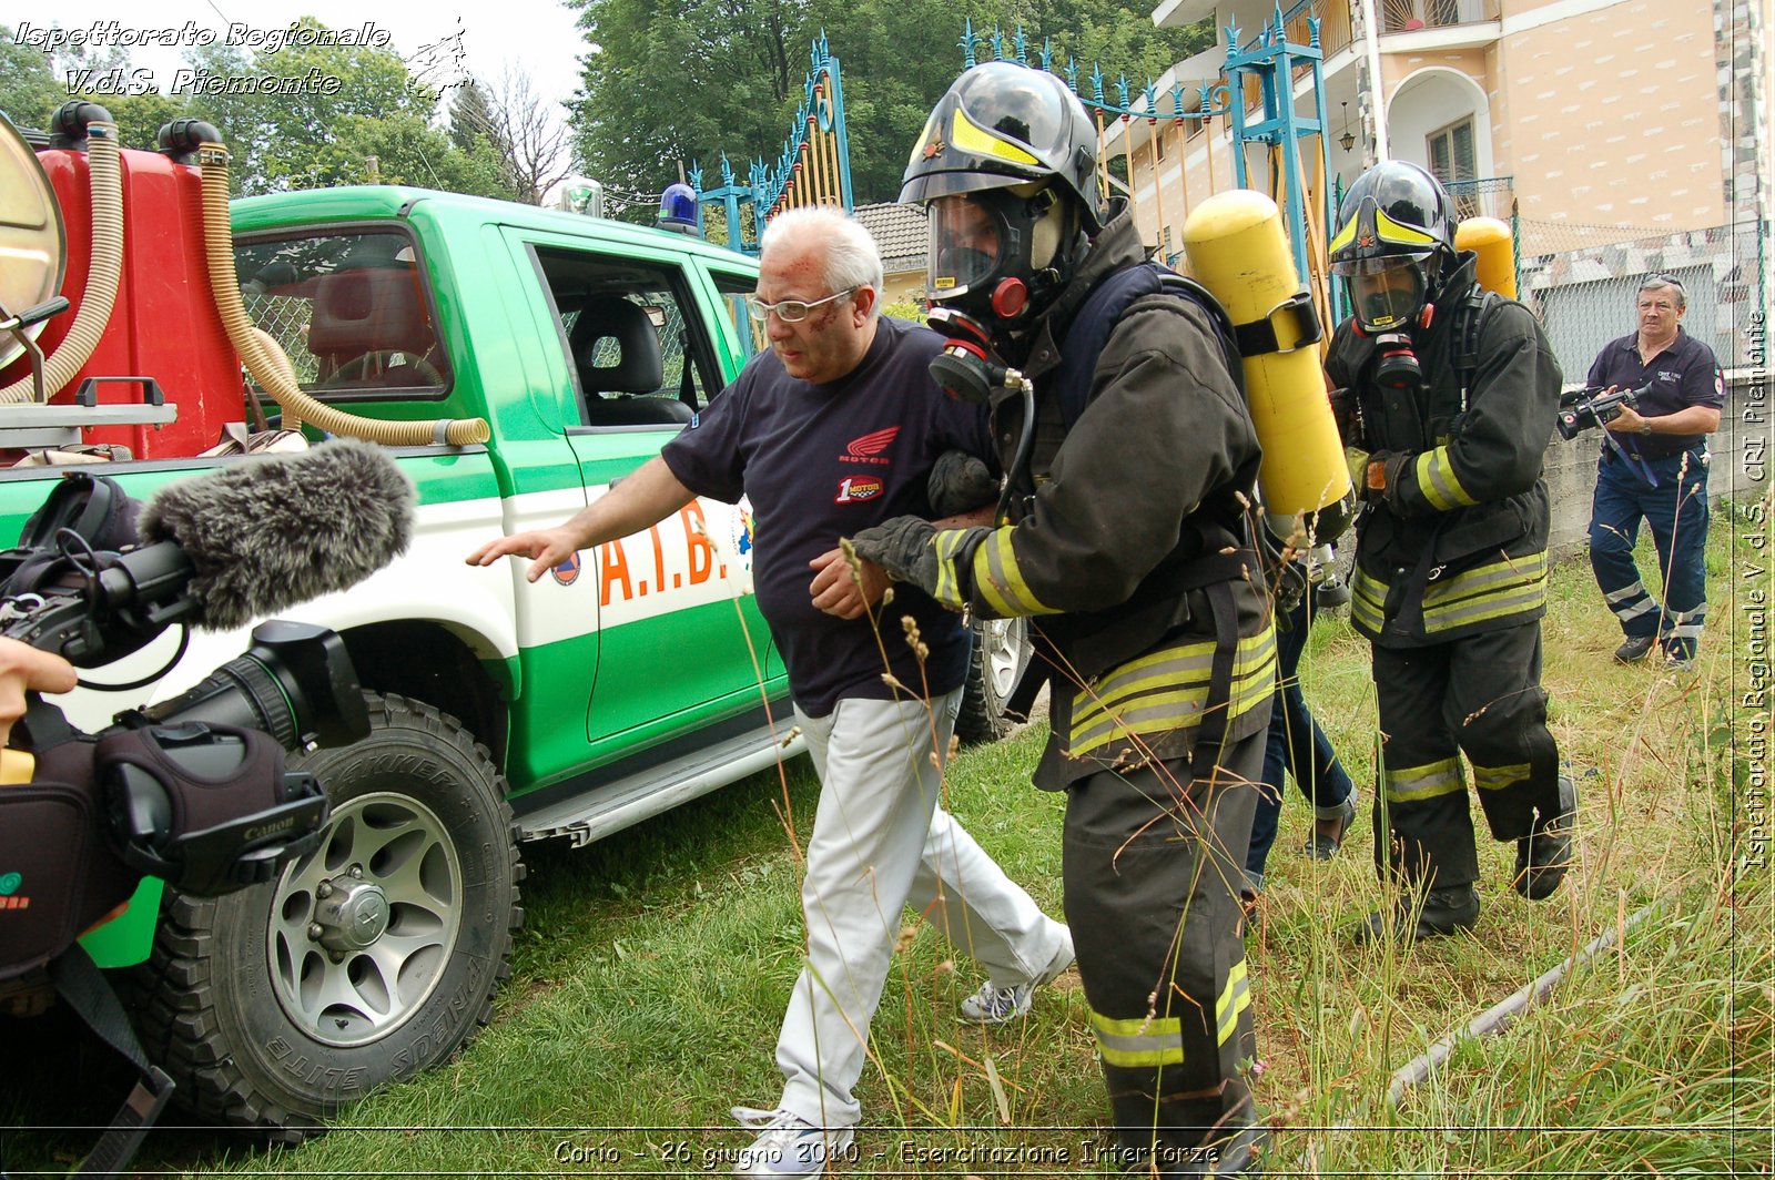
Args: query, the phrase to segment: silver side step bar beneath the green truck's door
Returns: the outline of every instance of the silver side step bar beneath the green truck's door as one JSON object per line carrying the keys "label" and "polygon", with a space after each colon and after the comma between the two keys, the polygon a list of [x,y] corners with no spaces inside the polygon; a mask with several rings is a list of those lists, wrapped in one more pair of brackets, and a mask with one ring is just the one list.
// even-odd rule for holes
{"label": "silver side step bar beneath the green truck's door", "polygon": [[[532,813],[520,811],[518,838],[566,836],[575,848],[584,848],[595,839],[651,820],[678,804],[806,752],[808,743],[801,733],[793,731],[793,736],[790,733],[792,728],[785,724],[779,724],[776,733],[769,726],[760,726],[612,779],[586,793],[545,804]],[[522,800],[517,800],[517,806],[522,807]]]}

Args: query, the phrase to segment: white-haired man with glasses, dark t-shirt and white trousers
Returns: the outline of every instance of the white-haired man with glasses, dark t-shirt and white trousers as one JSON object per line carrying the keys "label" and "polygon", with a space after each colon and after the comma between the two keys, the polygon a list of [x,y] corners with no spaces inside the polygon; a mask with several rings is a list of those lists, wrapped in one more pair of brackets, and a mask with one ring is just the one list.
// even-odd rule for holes
{"label": "white-haired man with glasses, dark t-shirt and white trousers", "polygon": [[[935,332],[880,318],[875,241],[834,209],[793,209],[765,231],[749,314],[770,351],[634,476],[557,529],[469,557],[531,557],[534,582],[573,552],[678,511],[694,495],[753,506],[758,609],[788,667],[795,722],[820,775],[801,898],[808,958],[783,1017],[774,1109],[735,1107],[758,1130],[735,1173],[820,1175],[856,1157],[870,1020],[905,905],[987,967],[960,1004],[1003,1024],[1072,964],[1072,939],[937,806],[960,708],[969,633],[958,614],[902,586],[838,538],[891,516],[935,516],[932,474],[994,454],[985,406],[930,378]],[[960,452],[960,454],[957,454]],[[994,495],[971,463],[976,500]],[[937,481],[939,492],[946,486]],[[941,495],[939,495],[941,499]]]}

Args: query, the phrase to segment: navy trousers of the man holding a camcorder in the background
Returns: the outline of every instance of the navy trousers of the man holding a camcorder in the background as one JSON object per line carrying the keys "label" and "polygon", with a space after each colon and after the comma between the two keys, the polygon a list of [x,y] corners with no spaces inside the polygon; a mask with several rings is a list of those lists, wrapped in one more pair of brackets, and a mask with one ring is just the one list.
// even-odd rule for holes
{"label": "navy trousers of the man holding a camcorder in the background", "polygon": [[[1676,655],[1692,657],[1708,616],[1708,467],[1699,449],[1647,467],[1658,476],[1656,488],[1619,460],[1599,463],[1590,499],[1590,570],[1624,633],[1660,635]],[[1661,594],[1645,586],[1633,559],[1642,520],[1658,550]]]}

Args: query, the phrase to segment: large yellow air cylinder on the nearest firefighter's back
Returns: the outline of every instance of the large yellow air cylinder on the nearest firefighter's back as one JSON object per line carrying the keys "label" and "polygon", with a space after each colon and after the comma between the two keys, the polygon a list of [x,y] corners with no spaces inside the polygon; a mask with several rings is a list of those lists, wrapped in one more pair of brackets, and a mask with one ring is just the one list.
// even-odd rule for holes
{"label": "large yellow air cylinder on the nearest firefighter's back", "polygon": [[1271,348],[1244,358],[1244,396],[1264,445],[1264,507],[1296,515],[1337,504],[1349,495],[1349,467],[1314,346],[1312,300],[1276,202],[1248,188],[1209,197],[1184,222],[1184,252],[1189,271],[1232,316],[1241,351],[1267,337],[1266,319],[1274,328],[1274,341],[1264,341]]}

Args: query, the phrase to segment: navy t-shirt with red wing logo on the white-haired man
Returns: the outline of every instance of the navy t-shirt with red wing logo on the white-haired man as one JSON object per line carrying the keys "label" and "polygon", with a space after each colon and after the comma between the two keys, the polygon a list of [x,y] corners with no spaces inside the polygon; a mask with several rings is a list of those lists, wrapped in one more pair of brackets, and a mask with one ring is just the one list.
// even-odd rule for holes
{"label": "navy t-shirt with red wing logo on the white-haired man", "polygon": [[[960,616],[916,586],[895,584],[879,642],[868,618],[832,618],[808,589],[808,562],[838,538],[889,516],[932,515],[925,484],[939,454],[994,463],[985,406],[958,403],[930,380],[941,346],[930,328],[877,319],[863,362],[827,385],[792,378],[776,353],[761,353],[660,452],[698,495],[751,499],[758,610],[809,717],[831,713],[840,697],[889,699],[882,649],[914,694],[925,685],[950,692],[967,674]],[[923,673],[900,625],[907,614],[930,649]]]}

